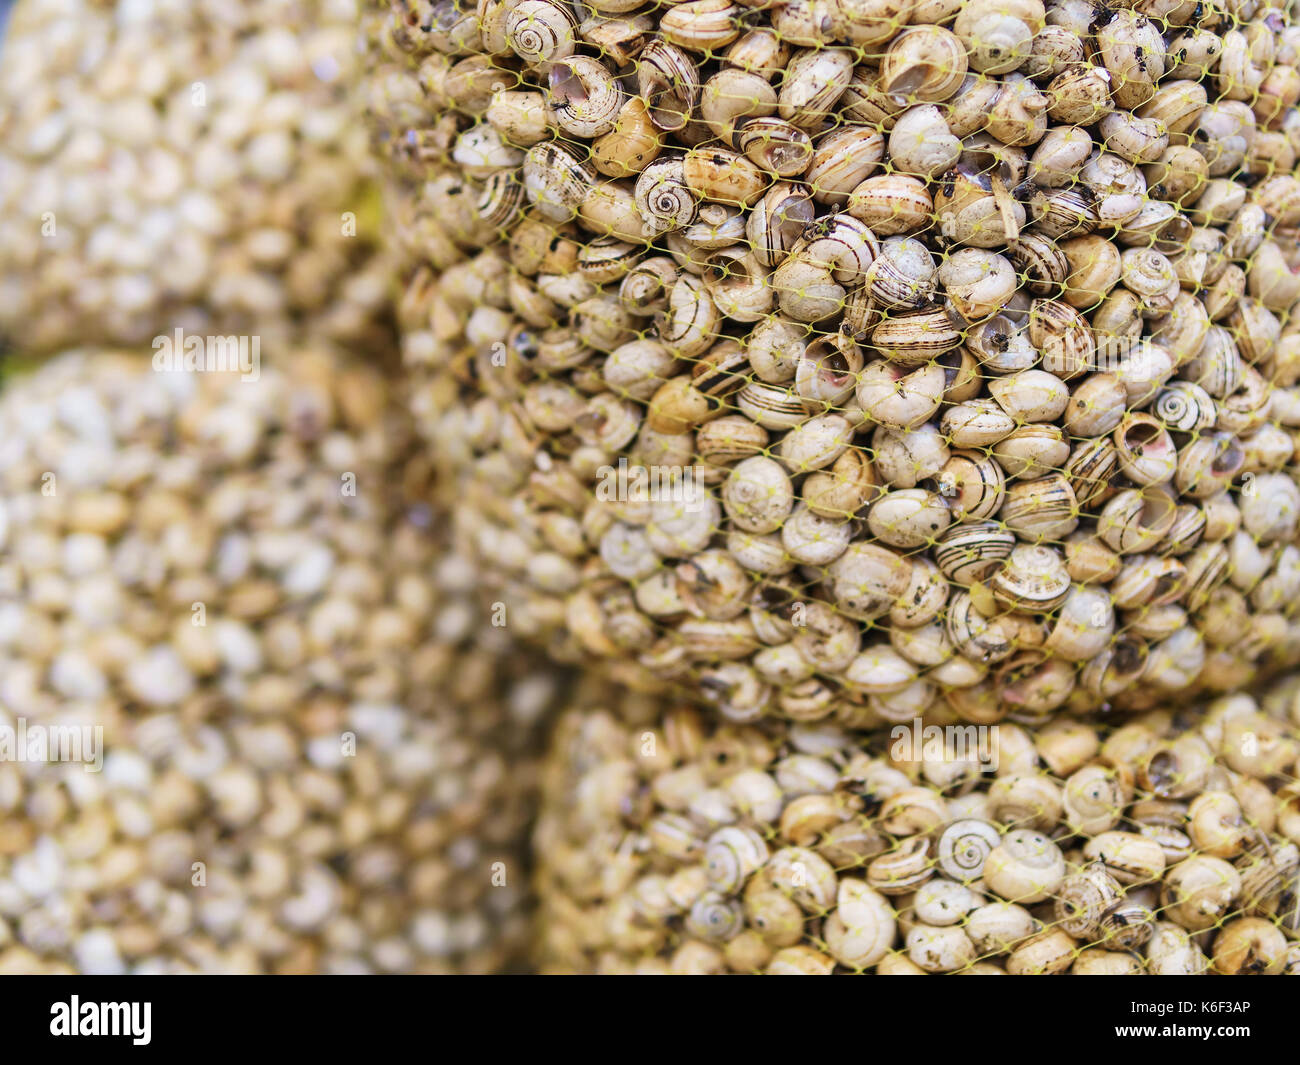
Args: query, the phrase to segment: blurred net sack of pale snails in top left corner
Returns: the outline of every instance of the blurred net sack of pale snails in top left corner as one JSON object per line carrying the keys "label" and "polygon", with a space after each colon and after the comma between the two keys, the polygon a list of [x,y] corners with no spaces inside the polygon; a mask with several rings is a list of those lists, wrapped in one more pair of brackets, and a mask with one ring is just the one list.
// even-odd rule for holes
{"label": "blurred net sack of pale snails in top left corner", "polygon": [[356,17],[356,0],[22,0],[0,53],[0,341],[269,341],[307,319],[390,338]]}

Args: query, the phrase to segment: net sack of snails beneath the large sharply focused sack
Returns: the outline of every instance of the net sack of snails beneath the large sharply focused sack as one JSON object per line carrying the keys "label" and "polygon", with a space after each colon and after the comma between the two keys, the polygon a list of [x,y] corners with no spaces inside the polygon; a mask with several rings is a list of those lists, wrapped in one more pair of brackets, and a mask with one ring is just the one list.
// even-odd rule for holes
{"label": "net sack of snails beneath the large sharply focused sack", "polygon": [[1119,727],[996,726],[984,772],[953,737],[567,713],[538,965],[1300,974],[1297,681]]}

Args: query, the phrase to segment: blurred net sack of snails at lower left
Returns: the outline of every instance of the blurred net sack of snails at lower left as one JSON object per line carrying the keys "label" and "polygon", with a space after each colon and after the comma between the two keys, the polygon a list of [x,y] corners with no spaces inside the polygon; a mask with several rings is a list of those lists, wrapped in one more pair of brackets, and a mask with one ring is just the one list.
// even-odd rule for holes
{"label": "blurred net sack of snails at lower left", "polygon": [[0,728],[103,730],[98,772],[0,761],[0,971],[517,965],[564,680],[407,505],[393,393],[307,347],[0,393]]}

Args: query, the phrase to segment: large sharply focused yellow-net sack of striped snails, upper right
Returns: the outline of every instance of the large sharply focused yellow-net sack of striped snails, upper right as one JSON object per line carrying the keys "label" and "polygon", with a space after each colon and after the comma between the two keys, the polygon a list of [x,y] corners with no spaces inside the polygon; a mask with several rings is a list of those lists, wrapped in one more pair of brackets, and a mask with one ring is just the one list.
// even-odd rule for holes
{"label": "large sharply focused yellow-net sack of striped snails, upper right", "polygon": [[[1034,722],[1295,661],[1290,7],[370,27],[420,430],[516,632],[733,722]],[[620,464],[701,490],[611,498]]]}

